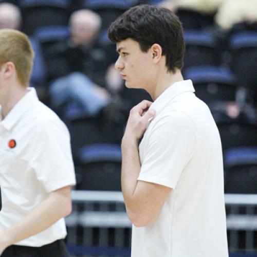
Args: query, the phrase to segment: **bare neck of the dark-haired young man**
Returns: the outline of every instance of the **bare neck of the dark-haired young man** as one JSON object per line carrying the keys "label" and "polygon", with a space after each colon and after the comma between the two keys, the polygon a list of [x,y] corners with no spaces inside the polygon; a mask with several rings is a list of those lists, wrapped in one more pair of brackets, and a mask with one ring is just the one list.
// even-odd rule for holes
{"label": "bare neck of the dark-haired young man", "polygon": [[153,87],[152,92],[149,92],[153,100],[155,101],[168,87],[172,86],[172,84],[182,81],[183,77],[181,75],[181,71],[176,69],[175,74],[172,72],[164,74],[160,74],[158,76],[157,82]]}

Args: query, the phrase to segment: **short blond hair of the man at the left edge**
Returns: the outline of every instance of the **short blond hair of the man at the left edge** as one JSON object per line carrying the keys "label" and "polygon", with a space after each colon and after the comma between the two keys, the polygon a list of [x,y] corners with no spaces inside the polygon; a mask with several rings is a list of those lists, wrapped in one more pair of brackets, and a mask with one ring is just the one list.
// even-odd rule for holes
{"label": "short blond hair of the man at the left edge", "polygon": [[24,87],[28,86],[34,51],[28,36],[15,29],[0,29],[0,66],[12,62],[17,79]]}

